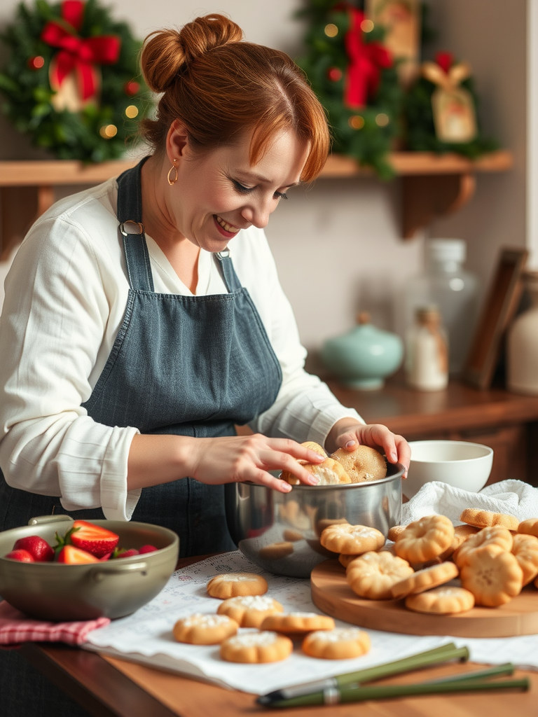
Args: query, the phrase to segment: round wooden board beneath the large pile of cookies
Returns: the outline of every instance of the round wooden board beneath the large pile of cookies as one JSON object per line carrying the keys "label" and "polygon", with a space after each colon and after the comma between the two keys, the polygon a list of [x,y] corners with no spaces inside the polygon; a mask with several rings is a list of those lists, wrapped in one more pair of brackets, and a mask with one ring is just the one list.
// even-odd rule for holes
{"label": "round wooden board beneath the large pile of cookies", "polygon": [[313,602],[323,612],[371,630],[453,637],[513,637],[538,633],[538,590],[532,585],[501,607],[473,607],[456,615],[412,612],[403,600],[357,597],[337,560],[316,565],[311,586]]}

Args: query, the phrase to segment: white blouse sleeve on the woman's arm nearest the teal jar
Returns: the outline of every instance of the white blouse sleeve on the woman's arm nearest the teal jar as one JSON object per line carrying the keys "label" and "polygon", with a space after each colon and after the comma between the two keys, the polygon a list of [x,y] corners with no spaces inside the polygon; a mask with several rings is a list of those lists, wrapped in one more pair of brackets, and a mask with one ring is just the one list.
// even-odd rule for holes
{"label": "white blouse sleeve on the woman's arm nearest the teal jar", "polygon": [[[272,437],[324,445],[339,419],[354,418],[362,423],[364,420],[354,409],[344,407],[318,376],[306,373],[306,349],[301,345],[293,310],[280,286],[265,234],[258,232],[250,247],[250,252],[258,255],[256,259],[250,256],[251,267],[258,264],[254,272],[256,280],[249,281],[246,275],[240,278],[253,294],[283,376],[275,403],[251,422],[250,428]],[[246,247],[245,250],[249,252]]]}

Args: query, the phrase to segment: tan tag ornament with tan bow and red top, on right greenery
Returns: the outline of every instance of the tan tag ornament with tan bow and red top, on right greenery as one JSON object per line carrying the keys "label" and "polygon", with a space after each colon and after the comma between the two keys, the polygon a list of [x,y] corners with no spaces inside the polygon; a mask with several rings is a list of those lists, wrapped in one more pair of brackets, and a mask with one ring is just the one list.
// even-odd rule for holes
{"label": "tan tag ornament with tan bow and red top, on right greenery", "polygon": [[421,68],[426,80],[438,85],[432,95],[435,134],[442,142],[471,142],[477,131],[473,98],[459,86],[471,76],[471,65],[468,62],[452,65],[448,52],[440,52],[436,60],[423,62]]}

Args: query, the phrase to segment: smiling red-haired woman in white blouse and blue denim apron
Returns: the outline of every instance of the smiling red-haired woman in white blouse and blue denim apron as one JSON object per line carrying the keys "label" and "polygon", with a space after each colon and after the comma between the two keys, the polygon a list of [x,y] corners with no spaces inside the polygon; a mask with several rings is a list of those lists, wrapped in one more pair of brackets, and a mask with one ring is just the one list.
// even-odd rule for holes
{"label": "smiling red-haired woman in white blouse and blue denim apron", "polygon": [[151,34],[141,65],[163,93],[151,156],[53,206],[6,282],[0,524],[133,518],[179,533],[181,555],[232,550],[225,483],[314,483],[306,440],[410,452],[305,373],[263,234],[329,151],[301,71],[219,15]]}

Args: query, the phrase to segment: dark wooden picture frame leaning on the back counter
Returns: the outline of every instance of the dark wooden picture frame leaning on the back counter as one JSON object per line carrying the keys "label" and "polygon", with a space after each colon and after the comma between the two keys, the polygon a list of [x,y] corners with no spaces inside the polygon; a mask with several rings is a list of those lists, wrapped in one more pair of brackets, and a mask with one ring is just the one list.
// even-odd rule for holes
{"label": "dark wooden picture frame leaning on the back counter", "polygon": [[478,389],[486,390],[491,386],[499,361],[501,339],[521,299],[522,272],[528,255],[526,249],[501,249],[462,373],[463,381]]}

